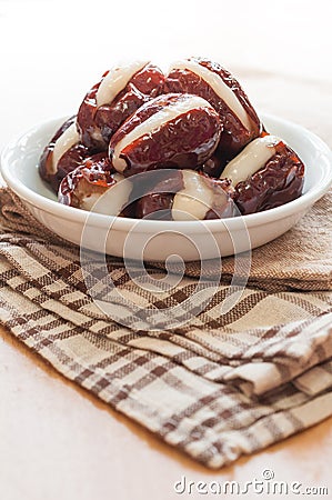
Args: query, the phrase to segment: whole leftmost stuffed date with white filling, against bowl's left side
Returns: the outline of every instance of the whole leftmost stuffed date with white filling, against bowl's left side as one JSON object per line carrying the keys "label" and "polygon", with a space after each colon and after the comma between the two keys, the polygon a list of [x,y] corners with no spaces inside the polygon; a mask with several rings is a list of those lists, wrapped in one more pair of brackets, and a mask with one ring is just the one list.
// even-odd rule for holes
{"label": "whole leftmost stuffed date with white filling, against bowl's left side", "polygon": [[58,192],[62,179],[91,154],[80,142],[76,117],[67,120],[52,137],[39,161],[40,177]]}

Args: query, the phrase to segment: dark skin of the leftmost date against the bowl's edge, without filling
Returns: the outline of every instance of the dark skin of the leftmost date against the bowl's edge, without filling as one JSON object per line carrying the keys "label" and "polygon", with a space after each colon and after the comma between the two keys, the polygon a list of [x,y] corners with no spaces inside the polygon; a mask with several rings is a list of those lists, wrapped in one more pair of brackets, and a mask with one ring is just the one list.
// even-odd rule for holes
{"label": "dark skin of the leftmost date against the bowl's edge, without filling", "polygon": [[72,123],[74,123],[74,121],[76,117],[71,117],[60,127],[57,133],[52,137],[51,141],[44,148],[39,161],[40,177],[51,186],[54,192],[58,192],[62,179],[78,166],[82,164],[82,162],[90,156],[88,148],[81,143],[76,144],[62,154],[56,166],[56,171],[53,170],[52,156],[56,141]]}

